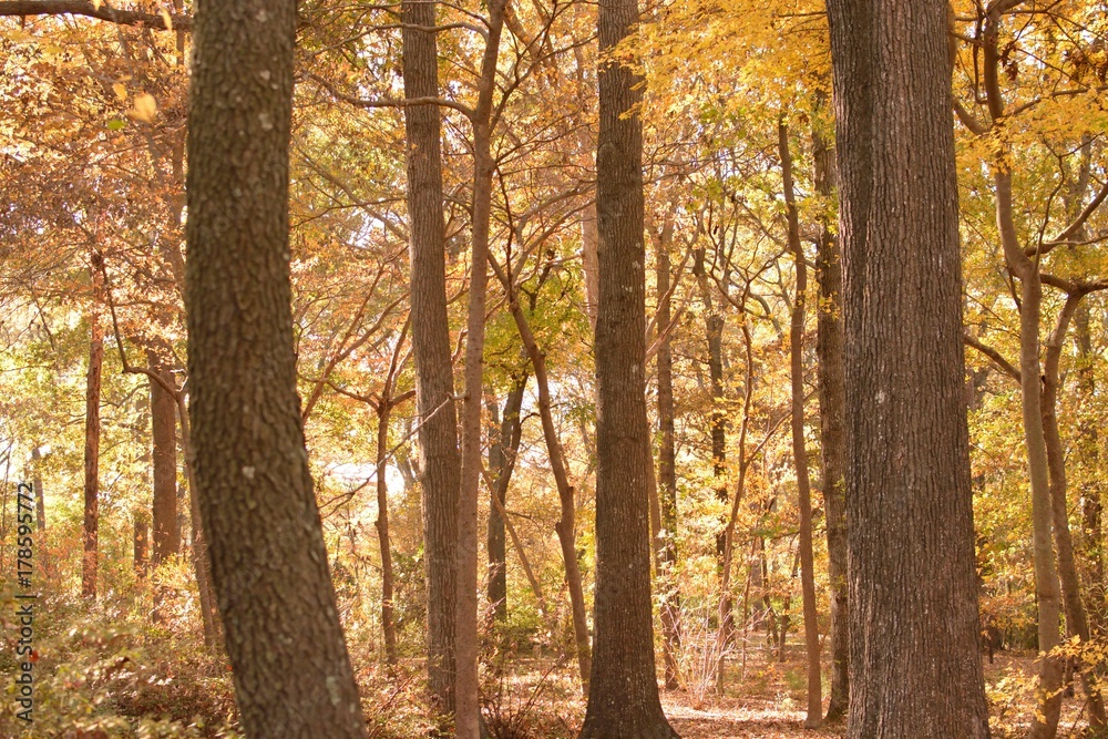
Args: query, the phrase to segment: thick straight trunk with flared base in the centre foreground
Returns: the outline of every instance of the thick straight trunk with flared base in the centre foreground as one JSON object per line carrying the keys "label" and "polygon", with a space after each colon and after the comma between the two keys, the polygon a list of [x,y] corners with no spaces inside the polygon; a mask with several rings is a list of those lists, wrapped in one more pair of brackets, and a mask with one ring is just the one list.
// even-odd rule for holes
{"label": "thick straight trunk with flared base in the centre foreground", "polygon": [[[602,54],[638,21],[636,0],[602,0]],[[596,320],[596,595],[584,739],[669,739],[654,663],[646,490],[646,250],[640,78],[599,72]]]}

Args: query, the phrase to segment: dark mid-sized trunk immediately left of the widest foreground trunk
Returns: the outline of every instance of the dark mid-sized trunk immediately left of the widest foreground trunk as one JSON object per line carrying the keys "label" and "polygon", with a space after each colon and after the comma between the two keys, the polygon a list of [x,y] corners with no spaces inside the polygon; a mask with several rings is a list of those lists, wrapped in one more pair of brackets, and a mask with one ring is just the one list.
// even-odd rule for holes
{"label": "dark mid-sized trunk immediately left of the widest foreground trunk", "polygon": [[[823,135],[812,134],[815,192],[833,195],[834,152]],[[842,263],[832,224],[820,224],[815,257],[820,283],[815,357],[820,398],[820,439],[823,462],[823,505],[827,511],[828,586],[831,591],[831,699],[827,720],[847,718],[850,700],[850,610],[847,598],[847,434],[843,397]]]}

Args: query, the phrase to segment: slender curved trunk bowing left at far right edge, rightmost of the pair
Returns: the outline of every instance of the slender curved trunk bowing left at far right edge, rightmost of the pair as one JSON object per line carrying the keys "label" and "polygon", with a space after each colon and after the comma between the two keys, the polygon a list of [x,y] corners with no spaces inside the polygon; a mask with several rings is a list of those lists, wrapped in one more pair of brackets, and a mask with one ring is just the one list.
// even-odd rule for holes
{"label": "slender curved trunk bowing left at far right edge, rightmost of the pair", "polygon": [[[1046,342],[1046,359],[1043,363],[1043,434],[1046,441],[1047,465],[1050,470],[1050,511],[1054,520],[1054,542],[1058,550],[1058,578],[1061,583],[1063,605],[1066,626],[1083,645],[1089,644],[1089,619],[1081,601],[1080,576],[1074,557],[1074,540],[1069,533],[1068,486],[1066,480],[1066,452],[1058,429],[1058,393],[1060,390],[1059,366],[1066,343],[1066,332],[1085,294],[1069,292],[1054,333]],[[1105,705],[1096,676],[1091,670],[1081,670],[1081,685],[1088,697],[1089,727],[1099,732],[1105,727]]]}

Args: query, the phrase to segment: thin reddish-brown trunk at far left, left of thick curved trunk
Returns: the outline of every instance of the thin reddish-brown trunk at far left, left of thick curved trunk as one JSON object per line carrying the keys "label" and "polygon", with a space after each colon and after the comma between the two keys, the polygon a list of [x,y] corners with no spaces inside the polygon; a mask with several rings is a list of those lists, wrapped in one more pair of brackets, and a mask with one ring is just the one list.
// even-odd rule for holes
{"label": "thin reddish-brown trunk at far left, left of thick curved trunk", "polygon": [[[93,288],[99,294],[100,256],[95,255],[93,261]],[[99,299],[99,295],[94,299]],[[100,383],[104,365],[104,330],[95,305],[89,317],[89,330],[91,339],[84,396],[84,553],[81,560],[81,595],[95,598],[100,561]]]}

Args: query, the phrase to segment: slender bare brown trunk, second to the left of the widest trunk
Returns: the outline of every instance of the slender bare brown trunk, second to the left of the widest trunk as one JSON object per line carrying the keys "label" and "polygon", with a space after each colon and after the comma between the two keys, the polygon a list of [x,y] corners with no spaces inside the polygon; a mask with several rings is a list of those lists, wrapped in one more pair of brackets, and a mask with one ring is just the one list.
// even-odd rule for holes
{"label": "slender bare brown trunk, second to the left of the widest trunk", "polygon": [[808,445],[804,441],[804,318],[808,301],[808,265],[800,243],[800,216],[792,182],[792,153],[789,150],[789,127],[778,125],[778,151],[781,156],[781,179],[784,187],[786,219],[789,224],[789,248],[797,275],[792,321],[789,329],[789,362],[792,381],[792,458],[797,468],[797,506],[800,512],[800,588],[804,610],[804,648],[808,654],[808,717],[804,726],[818,727],[823,721],[823,687],[820,681],[820,625],[815,613],[815,561],[812,555],[812,483],[808,471]]}

